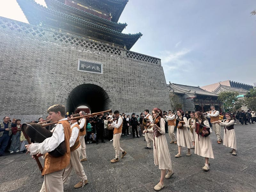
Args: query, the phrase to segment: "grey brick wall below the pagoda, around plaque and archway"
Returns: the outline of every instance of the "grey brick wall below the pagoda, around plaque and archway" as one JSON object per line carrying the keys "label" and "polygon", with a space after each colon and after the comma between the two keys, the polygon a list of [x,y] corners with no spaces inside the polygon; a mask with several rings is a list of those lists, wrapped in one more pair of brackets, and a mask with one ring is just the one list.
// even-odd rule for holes
{"label": "grey brick wall below the pagoda, around plaque and archway", "polygon": [[[77,71],[78,60],[102,63],[103,74]],[[104,110],[170,108],[160,59],[63,30],[0,17],[0,64],[0,120],[45,118],[49,106],[67,106],[69,94],[83,84],[107,93]]]}

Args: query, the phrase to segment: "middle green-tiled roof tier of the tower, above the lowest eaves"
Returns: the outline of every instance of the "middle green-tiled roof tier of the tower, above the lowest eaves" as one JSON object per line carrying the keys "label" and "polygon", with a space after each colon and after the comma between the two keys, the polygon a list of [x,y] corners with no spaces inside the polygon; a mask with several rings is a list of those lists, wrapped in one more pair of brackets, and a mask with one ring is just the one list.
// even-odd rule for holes
{"label": "middle green-tiled roof tier of the tower, above the lowest eaves", "polygon": [[48,8],[51,8],[55,11],[63,12],[69,15],[73,15],[75,17],[79,17],[80,19],[91,21],[97,24],[104,25],[107,28],[111,28],[113,30],[122,32],[124,28],[127,26],[126,23],[117,23],[104,18],[101,18],[92,13],[77,9],[75,7],[63,4],[58,0],[45,0],[45,3]]}

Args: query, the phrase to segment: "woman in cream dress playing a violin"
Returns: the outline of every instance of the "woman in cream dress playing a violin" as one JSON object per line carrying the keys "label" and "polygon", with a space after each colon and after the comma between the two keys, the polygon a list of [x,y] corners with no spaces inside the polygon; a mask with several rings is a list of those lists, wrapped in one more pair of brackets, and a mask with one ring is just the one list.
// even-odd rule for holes
{"label": "woman in cream dress playing a violin", "polygon": [[[159,113],[160,112],[160,113]],[[157,116],[157,114],[159,115]],[[155,191],[160,191],[164,188],[164,178],[169,179],[173,175],[171,156],[165,137],[165,121],[163,118],[162,110],[154,108],[152,110],[153,118],[152,123],[153,129],[144,130],[143,133],[153,133],[153,146],[154,146],[154,163],[161,169],[161,178],[159,183],[154,187]],[[156,117],[157,116],[157,117]],[[168,171],[167,174],[166,170]]]}

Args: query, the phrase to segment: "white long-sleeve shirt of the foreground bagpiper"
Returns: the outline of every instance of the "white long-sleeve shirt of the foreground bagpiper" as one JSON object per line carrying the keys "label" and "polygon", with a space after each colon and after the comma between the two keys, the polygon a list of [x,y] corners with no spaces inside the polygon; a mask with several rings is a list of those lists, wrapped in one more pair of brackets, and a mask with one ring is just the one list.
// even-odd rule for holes
{"label": "white long-sleeve shirt of the foreground bagpiper", "polygon": [[[67,118],[61,119],[60,121],[67,120]],[[58,122],[60,122],[58,121]],[[31,155],[36,155],[37,153],[45,154],[56,149],[62,141],[64,141],[64,127],[62,124],[56,124],[56,126],[51,130],[52,137],[46,138],[42,143],[32,143],[29,146],[29,151]]]}

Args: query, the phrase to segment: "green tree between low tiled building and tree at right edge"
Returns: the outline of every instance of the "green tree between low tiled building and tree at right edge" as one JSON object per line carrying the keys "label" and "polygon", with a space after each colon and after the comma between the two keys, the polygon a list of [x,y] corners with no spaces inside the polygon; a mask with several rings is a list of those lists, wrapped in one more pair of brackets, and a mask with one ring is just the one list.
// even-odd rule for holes
{"label": "green tree between low tiled building and tree at right edge", "polygon": [[225,109],[233,108],[234,103],[237,102],[238,92],[224,91],[220,92],[218,100],[221,101]]}

